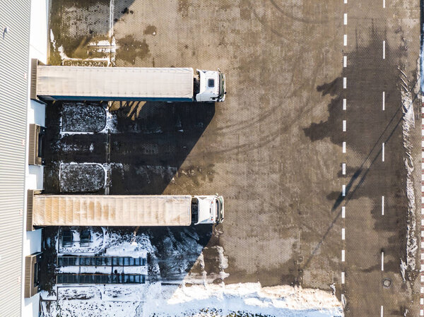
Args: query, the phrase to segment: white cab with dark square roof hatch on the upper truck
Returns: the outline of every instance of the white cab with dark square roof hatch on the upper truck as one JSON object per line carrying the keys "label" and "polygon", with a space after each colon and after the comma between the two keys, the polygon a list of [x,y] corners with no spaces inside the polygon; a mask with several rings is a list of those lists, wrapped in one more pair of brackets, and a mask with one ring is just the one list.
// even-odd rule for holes
{"label": "white cab with dark square roof hatch on the upper truck", "polygon": [[225,100],[225,75],[218,71],[196,70],[199,75],[198,102],[222,102]]}

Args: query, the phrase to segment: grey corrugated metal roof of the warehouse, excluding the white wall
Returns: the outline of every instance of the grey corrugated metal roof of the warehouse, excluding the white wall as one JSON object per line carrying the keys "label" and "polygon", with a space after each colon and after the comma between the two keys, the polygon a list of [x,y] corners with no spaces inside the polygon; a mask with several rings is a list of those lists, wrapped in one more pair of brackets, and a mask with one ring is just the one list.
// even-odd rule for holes
{"label": "grey corrugated metal roof of the warehouse, excluding the white wall", "polygon": [[[4,29],[8,28],[7,32]],[[20,316],[30,1],[0,1],[0,316]]]}

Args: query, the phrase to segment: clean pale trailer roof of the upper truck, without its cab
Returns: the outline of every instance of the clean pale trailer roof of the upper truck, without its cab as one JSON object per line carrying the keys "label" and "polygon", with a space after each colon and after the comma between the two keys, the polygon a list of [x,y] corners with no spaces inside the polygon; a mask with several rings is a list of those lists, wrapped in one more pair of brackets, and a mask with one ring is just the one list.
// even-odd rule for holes
{"label": "clean pale trailer roof of the upper truck, without its cab", "polygon": [[191,100],[194,71],[193,68],[38,65],[36,85],[37,96]]}

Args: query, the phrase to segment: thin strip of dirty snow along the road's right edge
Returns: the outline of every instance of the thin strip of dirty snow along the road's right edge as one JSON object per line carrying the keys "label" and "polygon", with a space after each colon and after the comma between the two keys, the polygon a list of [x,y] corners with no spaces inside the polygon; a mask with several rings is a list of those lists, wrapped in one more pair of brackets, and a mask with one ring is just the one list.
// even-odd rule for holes
{"label": "thin strip of dirty snow along the road's right edge", "polygon": [[402,111],[404,112],[403,116],[403,139],[404,139],[404,148],[406,150],[406,157],[404,158],[407,177],[406,177],[406,196],[408,198],[408,220],[407,220],[407,231],[406,231],[406,265],[401,265],[401,274],[405,280],[405,266],[410,270],[415,270],[416,268],[416,252],[418,251],[418,244],[416,238],[416,203],[415,203],[415,193],[413,189],[413,159],[411,156],[412,144],[410,141],[410,132],[411,129],[415,126],[415,120],[413,116],[413,103],[411,91],[406,89],[402,85],[403,90],[401,90],[402,96]]}

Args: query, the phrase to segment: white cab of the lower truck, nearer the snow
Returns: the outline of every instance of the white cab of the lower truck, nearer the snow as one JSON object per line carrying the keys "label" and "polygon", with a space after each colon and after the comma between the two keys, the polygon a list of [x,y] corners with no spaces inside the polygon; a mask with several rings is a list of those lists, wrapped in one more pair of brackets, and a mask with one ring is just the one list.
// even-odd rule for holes
{"label": "white cab of the lower truck, nearer the snow", "polygon": [[224,220],[224,198],[223,196],[194,196],[197,203],[194,205],[197,213],[194,225],[215,224]]}

